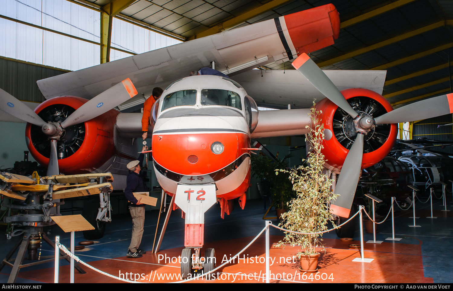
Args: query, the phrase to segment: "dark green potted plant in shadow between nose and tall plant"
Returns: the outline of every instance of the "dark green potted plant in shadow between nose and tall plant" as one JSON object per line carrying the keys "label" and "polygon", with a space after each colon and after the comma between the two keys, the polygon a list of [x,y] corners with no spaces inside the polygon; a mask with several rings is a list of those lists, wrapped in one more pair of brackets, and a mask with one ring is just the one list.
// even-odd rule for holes
{"label": "dark green potted plant in shadow between nose and tall plant", "polygon": [[275,205],[277,217],[280,218],[281,213],[286,212],[287,203],[295,197],[293,185],[289,181],[289,172],[285,172],[280,176],[275,176],[275,169],[286,168],[288,165],[290,154],[283,159],[276,158],[275,161],[269,157],[253,155],[251,165],[253,175],[261,180],[262,186],[270,190],[270,199]]}

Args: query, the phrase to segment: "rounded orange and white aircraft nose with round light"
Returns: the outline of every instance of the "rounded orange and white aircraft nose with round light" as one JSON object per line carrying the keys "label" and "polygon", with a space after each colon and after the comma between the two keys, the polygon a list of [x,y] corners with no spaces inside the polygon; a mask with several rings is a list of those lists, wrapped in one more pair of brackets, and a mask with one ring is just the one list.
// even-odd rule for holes
{"label": "rounded orange and white aircraft nose with round light", "polygon": [[181,122],[178,129],[155,129],[154,161],[186,176],[216,172],[234,162],[241,148],[247,148],[248,135],[233,129],[226,121],[219,122],[219,118],[209,119],[198,122],[198,127]]}

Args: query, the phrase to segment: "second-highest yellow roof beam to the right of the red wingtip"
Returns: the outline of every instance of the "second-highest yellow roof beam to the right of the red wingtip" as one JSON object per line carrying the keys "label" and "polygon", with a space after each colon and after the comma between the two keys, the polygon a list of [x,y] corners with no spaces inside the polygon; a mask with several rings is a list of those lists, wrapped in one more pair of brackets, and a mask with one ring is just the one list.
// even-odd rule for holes
{"label": "second-highest yellow roof beam to the right of the red wingtip", "polygon": [[322,67],[326,67],[326,66],[330,66],[330,65],[333,65],[333,64],[335,64],[337,62],[341,62],[341,61],[347,60],[347,59],[352,58],[352,57],[357,57],[357,56],[361,55],[362,53],[371,52],[372,50],[375,50],[377,48],[385,47],[385,46],[387,46],[389,44],[392,44],[392,43],[397,43],[397,42],[399,42],[399,41],[401,41],[403,39],[411,38],[411,37],[413,37],[415,35],[419,35],[421,33],[425,33],[425,32],[428,32],[430,30],[437,29],[439,27],[443,27],[443,26],[446,26],[446,25],[452,25],[452,24],[453,24],[453,20],[441,20],[441,21],[438,21],[436,23],[424,26],[422,28],[415,29],[413,31],[400,34],[400,35],[395,36],[393,38],[386,39],[386,40],[381,41],[379,43],[372,44],[372,45],[367,46],[365,48],[360,48],[360,49],[357,49],[355,51],[345,53],[345,54],[343,54],[341,56],[334,57],[334,58],[331,58],[331,59],[323,61],[323,62],[318,62],[317,65],[318,65],[318,67],[321,67],[321,68]]}

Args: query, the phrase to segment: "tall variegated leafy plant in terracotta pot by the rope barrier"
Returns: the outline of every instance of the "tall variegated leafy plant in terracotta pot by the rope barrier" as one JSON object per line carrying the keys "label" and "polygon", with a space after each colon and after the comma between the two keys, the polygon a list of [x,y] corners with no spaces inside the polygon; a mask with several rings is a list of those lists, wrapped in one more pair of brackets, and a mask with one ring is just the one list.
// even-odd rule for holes
{"label": "tall variegated leafy plant in terracotta pot by the rope barrier", "polygon": [[308,142],[311,151],[308,153],[306,166],[299,166],[290,171],[286,169],[277,170],[275,174],[288,173],[289,179],[293,184],[293,189],[297,196],[289,203],[289,211],[282,215],[284,219],[279,225],[285,229],[306,234],[294,234],[285,232],[285,237],[277,246],[290,244],[300,246],[297,253],[301,269],[303,272],[316,272],[318,264],[318,248],[324,250],[322,234],[318,233],[327,230],[329,220],[333,220],[333,215],[329,210],[329,201],[337,198],[338,195],[330,190],[331,179],[323,174],[324,155],[321,153],[323,148],[323,124],[316,124],[318,112],[311,109],[311,138]]}

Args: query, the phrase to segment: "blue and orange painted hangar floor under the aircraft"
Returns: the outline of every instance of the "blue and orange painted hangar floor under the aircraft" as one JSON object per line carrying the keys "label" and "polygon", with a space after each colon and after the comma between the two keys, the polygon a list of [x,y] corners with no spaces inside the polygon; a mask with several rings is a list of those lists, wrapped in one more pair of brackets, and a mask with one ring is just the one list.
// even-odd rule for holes
{"label": "blue and orange painted hangar floor under the aircraft", "polygon": [[[451,200],[451,199],[450,199]],[[417,205],[416,224],[419,228],[408,227],[412,224],[412,209],[408,211],[398,210],[395,213],[395,237],[402,238],[400,241],[385,240],[391,237],[391,221],[387,220],[379,226],[376,240],[384,243],[365,243],[365,258],[374,258],[372,262],[352,262],[359,258],[360,253],[350,244],[360,244],[360,232],[357,219],[357,231],[354,241],[342,242],[335,232],[324,234],[323,238],[326,252],[322,253],[318,262],[318,278],[303,276],[299,272],[299,262],[291,259],[297,248],[271,248],[270,258],[275,261],[270,266],[271,282],[344,282],[344,283],[448,283],[453,281],[453,211],[440,211],[440,201],[434,202],[434,216],[437,219],[425,218],[430,216],[429,204]],[[452,209],[452,203],[448,203],[447,209]],[[396,210],[396,208],[395,208]],[[217,266],[226,258],[234,256],[244,248],[265,226],[262,219],[265,210],[262,200],[250,200],[246,203],[245,210],[241,210],[236,204],[231,215],[225,219],[220,218],[220,206],[214,205],[206,213],[205,223],[205,247],[215,248]],[[159,255],[169,258],[178,257],[183,247],[184,221],[181,219],[181,210],[172,213],[164,241],[158,254],[151,254],[155,225],[157,222],[157,210],[146,212],[145,232],[141,248],[148,251],[142,258],[128,258],[125,256],[131,232],[131,219],[129,215],[117,215],[113,222],[107,225],[106,233],[102,239],[81,251],[76,255],[92,266],[108,272],[114,276],[132,279],[139,277],[137,281],[145,282],[168,282],[178,281],[180,274],[178,262],[159,261]],[[162,222],[161,217],[161,222]],[[273,224],[278,224],[277,219],[271,219]],[[5,226],[1,231],[5,232]],[[55,239],[59,235],[61,242],[69,247],[70,234],[64,233],[57,225],[50,227],[49,238]],[[271,228],[270,242],[277,243],[282,239],[283,232]],[[364,234],[365,241],[372,240],[373,234]],[[4,258],[17,238],[7,240],[0,237],[2,245],[0,257]],[[77,242],[85,240],[81,232],[76,233]],[[42,255],[53,255],[53,251],[47,244],[42,246]],[[202,251],[203,253],[203,251]],[[192,282],[263,282],[265,272],[265,236],[262,234],[234,263],[222,267],[215,280],[194,280]],[[287,259],[289,257],[289,260]],[[252,259],[253,258],[253,261]],[[261,258],[261,260],[260,260]],[[285,259],[283,259],[285,258]],[[248,260],[247,260],[248,259]],[[258,263],[255,261],[258,260]],[[248,261],[248,262],[247,262]],[[27,262],[27,261],[25,261]],[[75,282],[121,282],[106,277],[100,273],[82,266],[87,272],[79,274],[75,272]],[[6,266],[0,273],[0,282],[7,282],[11,268]],[[32,267],[26,267],[19,272],[18,283],[53,282],[53,263],[44,263]],[[69,282],[69,265],[61,261],[60,282]],[[128,274],[126,277],[126,273]],[[137,275],[136,275],[137,274]]]}

